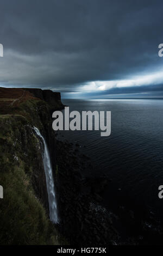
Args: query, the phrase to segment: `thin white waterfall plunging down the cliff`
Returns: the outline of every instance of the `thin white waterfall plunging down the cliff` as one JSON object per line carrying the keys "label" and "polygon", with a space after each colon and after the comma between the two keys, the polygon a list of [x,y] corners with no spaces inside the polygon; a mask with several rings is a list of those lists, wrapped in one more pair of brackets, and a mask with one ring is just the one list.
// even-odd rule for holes
{"label": "thin white waterfall plunging down the cliff", "polygon": [[58,223],[59,220],[58,220],[58,214],[57,214],[57,199],[56,199],[55,190],[54,190],[54,180],[53,180],[51,159],[49,156],[45,139],[42,137],[40,131],[36,127],[34,127],[34,131],[36,132],[37,136],[39,136],[42,139],[44,144],[44,152],[42,152],[42,159],[43,159],[43,166],[44,166],[45,175],[46,175],[46,185],[47,185],[48,202],[49,202],[49,217],[52,222]]}

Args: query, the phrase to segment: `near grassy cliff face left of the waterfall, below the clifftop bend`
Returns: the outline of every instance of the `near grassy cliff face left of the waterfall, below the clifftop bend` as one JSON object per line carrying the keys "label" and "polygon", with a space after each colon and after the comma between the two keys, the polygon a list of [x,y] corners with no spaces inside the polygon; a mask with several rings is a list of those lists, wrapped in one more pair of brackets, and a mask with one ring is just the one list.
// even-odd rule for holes
{"label": "near grassy cliff face left of the waterfall, below the clifftop bend", "polygon": [[55,228],[48,220],[42,148],[33,126],[20,114],[0,115],[0,143],[0,243],[56,244]]}

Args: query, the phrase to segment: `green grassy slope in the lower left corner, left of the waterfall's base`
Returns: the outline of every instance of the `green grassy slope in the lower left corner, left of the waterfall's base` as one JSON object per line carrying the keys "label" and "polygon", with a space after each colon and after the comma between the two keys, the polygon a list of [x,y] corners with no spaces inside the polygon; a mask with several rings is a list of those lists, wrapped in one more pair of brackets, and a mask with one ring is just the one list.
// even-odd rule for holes
{"label": "green grassy slope in the lower left corner, left of the waterfall's base", "polygon": [[[4,198],[0,205],[1,245],[58,244],[46,211],[35,197],[23,166],[4,173],[1,178]],[[53,235],[53,239],[52,236]]]}

